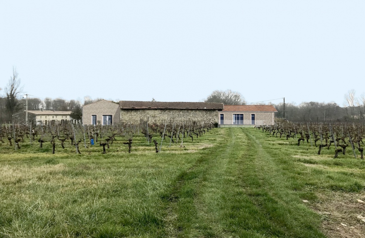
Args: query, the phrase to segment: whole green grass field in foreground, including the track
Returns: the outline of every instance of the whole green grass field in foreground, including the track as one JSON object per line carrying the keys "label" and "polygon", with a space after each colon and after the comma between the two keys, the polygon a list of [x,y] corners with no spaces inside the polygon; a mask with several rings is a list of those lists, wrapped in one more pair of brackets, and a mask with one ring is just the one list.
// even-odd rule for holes
{"label": "whole green grass field in foreground, including the track", "polygon": [[352,151],[333,159],[254,128],[158,154],[142,136],[131,154],[117,139],[107,154],[1,145],[0,237],[365,237],[365,162]]}

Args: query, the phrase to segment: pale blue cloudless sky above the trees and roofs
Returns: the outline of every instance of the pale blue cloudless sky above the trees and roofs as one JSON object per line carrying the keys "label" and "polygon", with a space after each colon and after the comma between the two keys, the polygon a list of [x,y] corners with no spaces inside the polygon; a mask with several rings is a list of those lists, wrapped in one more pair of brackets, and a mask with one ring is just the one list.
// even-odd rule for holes
{"label": "pale blue cloudless sky above the trees and roofs", "polygon": [[[0,1],[0,94],[336,102],[365,92],[365,1]],[[276,99],[276,100],[273,100]]]}

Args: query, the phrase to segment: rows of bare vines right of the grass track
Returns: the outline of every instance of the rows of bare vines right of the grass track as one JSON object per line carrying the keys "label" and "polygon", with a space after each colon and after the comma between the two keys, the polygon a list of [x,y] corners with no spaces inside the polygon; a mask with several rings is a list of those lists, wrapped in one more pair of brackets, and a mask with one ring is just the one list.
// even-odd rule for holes
{"label": "rows of bare vines right of the grass track", "polygon": [[[323,148],[333,151],[333,157],[351,153],[354,158],[364,159],[365,126],[360,123],[297,123],[277,120],[272,126],[257,126],[272,136],[295,141],[298,146],[305,143],[318,147],[318,155]],[[349,148],[349,149],[347,149]]]}

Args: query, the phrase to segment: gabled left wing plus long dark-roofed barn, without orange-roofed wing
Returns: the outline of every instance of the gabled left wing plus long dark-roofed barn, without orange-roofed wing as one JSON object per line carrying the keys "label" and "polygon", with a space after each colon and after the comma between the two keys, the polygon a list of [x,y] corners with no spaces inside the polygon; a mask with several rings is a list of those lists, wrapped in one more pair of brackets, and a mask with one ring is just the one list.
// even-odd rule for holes
{"label": "gabled left wing plus long dark-roofed barn, without orange-roofed wing", "polygon": [[112,125],[117,122],[207,121],[217,122],[223,103],[150,102],[101,100],[82,107],[84,125]]}

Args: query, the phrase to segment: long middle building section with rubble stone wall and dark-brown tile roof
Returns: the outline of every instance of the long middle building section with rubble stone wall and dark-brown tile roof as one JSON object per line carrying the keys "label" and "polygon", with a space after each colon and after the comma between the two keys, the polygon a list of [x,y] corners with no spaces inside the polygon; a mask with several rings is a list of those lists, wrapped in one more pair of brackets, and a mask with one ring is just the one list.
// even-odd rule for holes
{"label": "long middle building section with rubble stone wall and dark-brown tile roof", "polygon": [[146,102],[120,101],[120,121],[162,122],[174,121],[217,121],[217,113],[223,103],[215,102]]}

